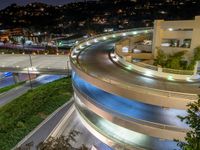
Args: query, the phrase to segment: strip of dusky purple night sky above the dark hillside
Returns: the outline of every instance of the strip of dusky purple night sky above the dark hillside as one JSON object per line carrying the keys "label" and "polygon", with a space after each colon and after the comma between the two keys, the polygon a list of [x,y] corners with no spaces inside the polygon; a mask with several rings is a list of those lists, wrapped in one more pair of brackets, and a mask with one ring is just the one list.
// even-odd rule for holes
{"label": "strip of dusky purple night sky above the dark hillside", "polygon": [[61,5],[78,1],[83,1],[83,0],[0,0],[0,9],[3,9],[12,3],[16,3],[18,5],[26,5],[32,2],[42,2],[51,5]]}

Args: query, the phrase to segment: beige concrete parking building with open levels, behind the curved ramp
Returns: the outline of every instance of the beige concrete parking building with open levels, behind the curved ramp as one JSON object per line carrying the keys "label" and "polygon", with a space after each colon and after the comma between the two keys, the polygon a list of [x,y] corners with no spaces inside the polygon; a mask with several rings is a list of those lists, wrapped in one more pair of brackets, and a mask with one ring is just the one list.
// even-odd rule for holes
{"label": "beige concrete parking building with open levels, behind the curved ramp", "polygon": [[160,48],[167,54],[187,51],[187,57],[193,56],[194,48],[200,46],[200,16],[194,20],[154,22],[153,54],[157,56]]}

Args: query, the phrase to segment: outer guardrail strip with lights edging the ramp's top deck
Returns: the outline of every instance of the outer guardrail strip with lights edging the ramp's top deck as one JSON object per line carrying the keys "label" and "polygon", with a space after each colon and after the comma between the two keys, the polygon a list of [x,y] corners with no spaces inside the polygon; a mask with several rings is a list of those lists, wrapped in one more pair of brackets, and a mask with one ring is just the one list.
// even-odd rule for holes
{"label": "outer guardrail strip with lights edging the ramp's top deck", "polygon": [[[173,98],[184,98],[188,99],[191,101],[195,101],[198,99],[197,94],[189,94],[189,93],[181,93],[181,92],[174,92],[174,91],[166,91],[166,90],[159,90],[159,89],[154,89],[154,88],[149,88],[149,87],[144,87],[144,86],[139,86],[139,85],[129,85],[128,83],[124,83],[123,81],[117,81],[117,80],[112,80],[109,78],[105,78],[102,76],[97,76],[94,74],[91,74],[88,72],[85,68],[81,67],[81,65],[78,63],[78,55],[84,50],[84,46],[88,47],[92,43],[97,43],[98,40],[106,40],[108,37],[106,35],[109,35],[109,38],[116,38],[116,37],[122,37],[126,35],[136,35],[136,33],[146,33],[146,32],[151,32],[152,28],[139,28],[139,29],[131,29],[131,30],[122,30],[122,31],[117,31],[113,33],[107,33],[107,34],[100,34],[95,37],[91,37],[89,39],[85,39],[81,42],[79,42],[77,45],[72,47],[71,49],[71,54],[70,54],[70,61],[72,64],[76,66],[76,68],[80,71],[83,71],[86,73],[88,76],[92,76],[96,79],[102,80],[104,82],[107,82],[112,85],[124,87],[125,89],[130,89],[130,90],[140,90],[141,92],[144,93],[149,93],[152,95],[161,95],[161,96],[166,96],[166,97],[173,97]],[[126,34],[125,34],[126,33]],[[127,34],[129,33],[129,34]],[[117,35],[118,34],[118,35]],[[156,67],[155,67],[156,68]]]}

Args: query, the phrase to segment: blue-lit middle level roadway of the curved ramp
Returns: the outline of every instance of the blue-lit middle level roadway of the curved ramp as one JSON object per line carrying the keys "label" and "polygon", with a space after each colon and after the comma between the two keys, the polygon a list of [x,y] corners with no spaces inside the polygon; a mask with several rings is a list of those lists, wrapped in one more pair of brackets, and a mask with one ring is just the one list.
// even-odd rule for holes
{"label": "blue-lit middle level roadway of the curved ramp", "polygon": [[87,95],[92,102],[99,107],[111,110],[112,113],[163,125],[188,128],[185,123],[181,122],[180,119],[177,118],[177,115],[186,115],[186,111],[184,110],[163,109],[158,106],[144,104],[113,95],[85,82],[77,75],[73,77],[73,81],[75,88],[83,92],[84,95]]}

